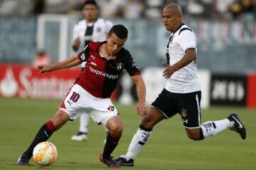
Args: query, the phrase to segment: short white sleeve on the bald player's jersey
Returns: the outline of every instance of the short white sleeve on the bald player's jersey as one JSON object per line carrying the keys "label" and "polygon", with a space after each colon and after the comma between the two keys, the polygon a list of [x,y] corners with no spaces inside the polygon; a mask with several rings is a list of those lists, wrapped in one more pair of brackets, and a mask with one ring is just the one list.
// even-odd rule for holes
{"label": "short white sleeve on the bald player's jersey", "polygon": [[191,30],[184,30],[178,36],[178,43],[186,52],[190,48],[196,49],[196,35]]}

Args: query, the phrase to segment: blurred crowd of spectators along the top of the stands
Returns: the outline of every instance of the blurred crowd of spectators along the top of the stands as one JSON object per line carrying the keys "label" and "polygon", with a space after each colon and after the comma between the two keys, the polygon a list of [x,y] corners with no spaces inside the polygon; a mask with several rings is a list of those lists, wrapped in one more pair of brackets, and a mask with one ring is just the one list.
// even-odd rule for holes
{"label": "blurred crowd of spectators along the top of the stands", "polygon": [[[0,0],[0,16],[78,13],[85,0]],[[103,18],[156,19],[175,2],[186,16],[221,20],[255,20],[256,0],[96,0]]]}

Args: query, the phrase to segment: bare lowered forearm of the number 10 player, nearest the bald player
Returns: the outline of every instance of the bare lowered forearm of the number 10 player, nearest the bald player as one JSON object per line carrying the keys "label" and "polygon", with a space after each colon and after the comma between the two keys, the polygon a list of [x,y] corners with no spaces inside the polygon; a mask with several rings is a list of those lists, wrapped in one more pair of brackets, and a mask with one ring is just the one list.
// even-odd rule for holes
{"label": "bare lowered forearm of the number 10 player, nearest the bald player", "polygon": [[138,96],[138,103],[137,103],[137,113],[139,115],[145,115],[146,114],[146,104],[145,104],[145,96],[146,96],[146,86],[144,84],[144,80],[142,79],[142,76],[132,76],[132,80],[134,81],[134,84],[136,85],[137,89],[137,96]]}

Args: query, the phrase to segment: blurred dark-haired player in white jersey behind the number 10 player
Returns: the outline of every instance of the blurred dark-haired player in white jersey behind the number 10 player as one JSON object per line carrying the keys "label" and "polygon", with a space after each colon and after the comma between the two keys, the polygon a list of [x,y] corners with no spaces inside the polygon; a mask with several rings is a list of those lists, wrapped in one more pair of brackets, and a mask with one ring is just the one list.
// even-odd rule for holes
{"label": "blurred dark-haired player in white jersey behind the number 10 player", "polygon": [[[84,19],[79,21],[75,25],[73,30],[73,45],[74,51],[78,51],[80,48],[85,47],[90,41],[103,41],[106,38],[113,23],[111,21],[99,18],[99,8],[97,3],[93,0],[85,1],[82,9],[82,15]],[[82,62],[81,67],[85,66],[85,62]],[[74,141],[87,140],[89,114],[82,114],[80,116],[80,128],[76,135],[71,137]]]}

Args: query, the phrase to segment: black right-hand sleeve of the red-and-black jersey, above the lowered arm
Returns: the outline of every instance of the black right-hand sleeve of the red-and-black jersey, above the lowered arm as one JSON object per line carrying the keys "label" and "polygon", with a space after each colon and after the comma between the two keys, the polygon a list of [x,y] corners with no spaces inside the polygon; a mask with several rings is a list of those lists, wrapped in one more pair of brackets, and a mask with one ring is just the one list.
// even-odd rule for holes
{"label": "black right-hand sleeve of the red-and-black jersey, above the lowered arm", "polygon": [[135,60],[129,53],[127,53],[127,59],[124,62],[124,68],[127,70],[130,76],[137,76],[141,74]]}

